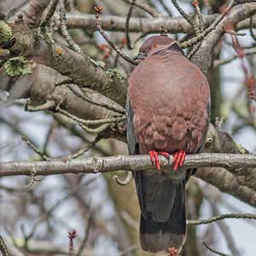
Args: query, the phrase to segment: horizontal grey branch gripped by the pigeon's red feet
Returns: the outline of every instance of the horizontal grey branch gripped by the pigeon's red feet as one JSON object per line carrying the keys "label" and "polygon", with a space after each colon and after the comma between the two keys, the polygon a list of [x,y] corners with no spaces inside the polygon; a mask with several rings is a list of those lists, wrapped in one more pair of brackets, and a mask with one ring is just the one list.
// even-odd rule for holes
{"label": "horizontal grey branch gripped by the pigeon's red feet", "polygon": [[[170,163],[160,156],[162,170],[170,171]],[[172,160],[171,160],[172,164]],[[253,154],[191,154],[187,155],[184,167],[256,167],[256,155]],[[38,162],[2,162],[0,163],[0,177],[31,175],[53,175],[64,173],[98,173],[119,170],[142,171],[155,169],[148,155],[117,155],[110,157],[89,157],[84,160],[70,161],[38,161]]]}

